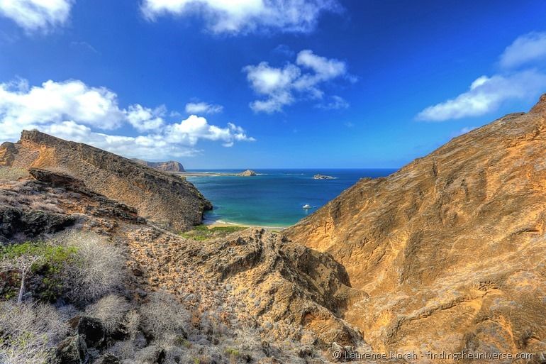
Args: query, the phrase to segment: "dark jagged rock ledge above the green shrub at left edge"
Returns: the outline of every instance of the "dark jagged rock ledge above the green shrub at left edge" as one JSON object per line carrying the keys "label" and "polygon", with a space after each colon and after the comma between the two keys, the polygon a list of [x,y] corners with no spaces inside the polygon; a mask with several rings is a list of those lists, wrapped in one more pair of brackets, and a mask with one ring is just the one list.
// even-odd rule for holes
{"label": "dark jagged rock ledge above the green shrub at left edge", "polygon": [[118,221],[144,224],[136,209],[96,194],[82,180],[30,168],[30,180],[0,184],[0,243],[62,231],[84,220],[110,231]]}

